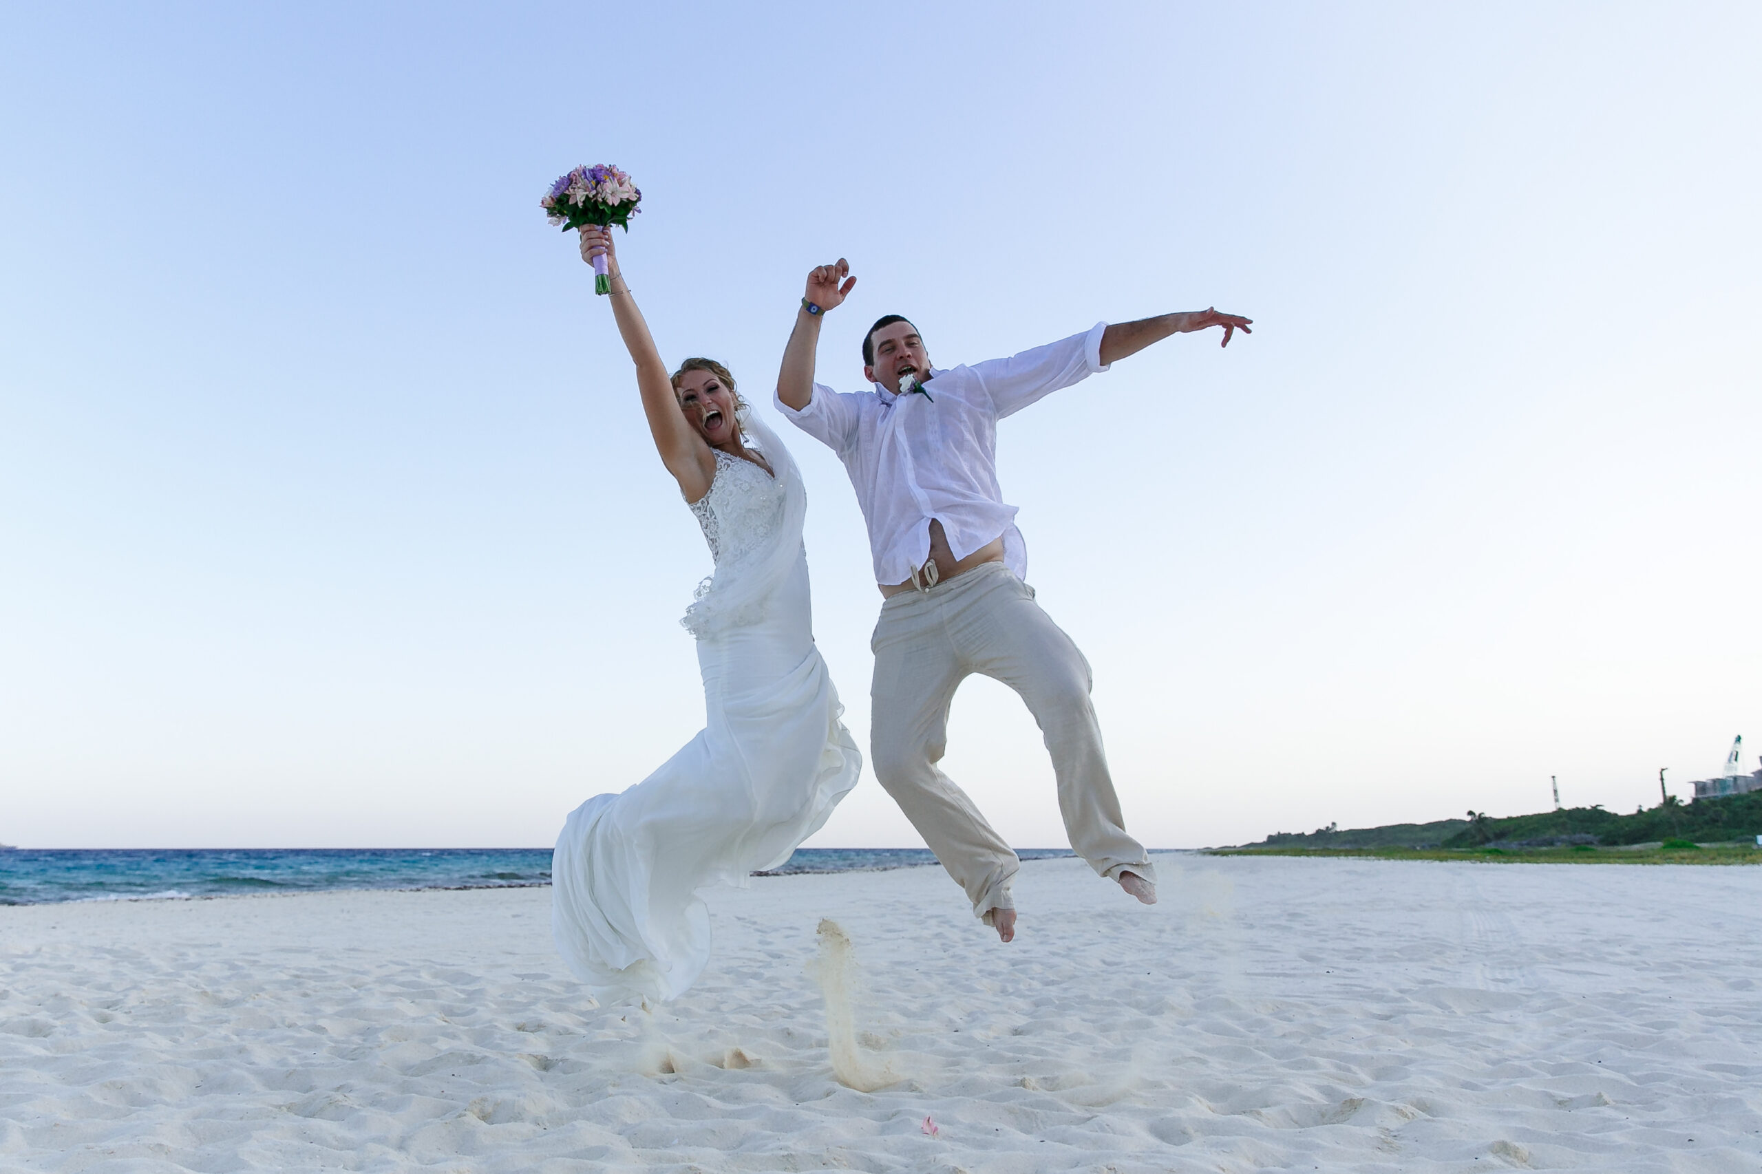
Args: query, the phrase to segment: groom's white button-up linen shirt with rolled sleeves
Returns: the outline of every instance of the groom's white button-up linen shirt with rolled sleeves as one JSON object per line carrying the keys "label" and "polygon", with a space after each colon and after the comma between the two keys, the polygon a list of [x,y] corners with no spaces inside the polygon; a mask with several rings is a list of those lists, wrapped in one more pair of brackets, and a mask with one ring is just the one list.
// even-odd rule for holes
{"label": "groom's white button-up linen shirt with rolled sleeves", "polygon": [[904,583],[930,557],[930,520],[943,524],[948,548],[966,559],[999,534],[1004,564],[1027,578],[1027,546],[1015,529],[1017,508],[997,487],[997,421],[1052,391],[1103,372],[1094,330],[1003,360],[950,370],[930,368],[920,393],[833,391],[816,383],[807,407],[782,398],[777,409],[832,448],[851,474],[869,524],[876,582]]}

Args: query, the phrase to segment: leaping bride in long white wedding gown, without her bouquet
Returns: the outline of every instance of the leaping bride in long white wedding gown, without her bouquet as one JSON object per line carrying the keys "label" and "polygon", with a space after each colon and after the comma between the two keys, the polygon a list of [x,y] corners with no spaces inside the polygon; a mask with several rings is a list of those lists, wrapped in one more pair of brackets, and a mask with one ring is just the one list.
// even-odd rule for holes
{"label": "leaping bride in long white wedding gown, without her bouquet", "polygon": [[636,361],[648,430],[703,525],[715,573],[680,620],[698,638],[705,728],[620,795],[576,807],[552,860],[552,934],[597,992],[671,999],[710,957],[698,890],[781,866],[856,784],[862,754],[814,647],[789,450],[747,409],[721,363],[668,375],[606,229],[611,312]]}

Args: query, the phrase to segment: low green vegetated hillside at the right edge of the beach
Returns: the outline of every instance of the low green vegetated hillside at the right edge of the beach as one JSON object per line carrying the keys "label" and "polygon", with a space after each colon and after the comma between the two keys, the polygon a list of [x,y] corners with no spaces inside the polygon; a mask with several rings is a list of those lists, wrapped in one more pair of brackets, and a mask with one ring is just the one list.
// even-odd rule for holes
{"label": "low green vegetated hillside at the right edge of the beach", "polygon": [[[1492,818],[1470,811],[1466,820],[1436,823],[1390,823],[1339,830],[1332,825],[1314,832],[1276,832],[1258,844],[1221,851],[1260,851],[1276,855],[1390,855],[1401,858],[1461,860],[1508,857],[1514,860],[1559,858],[1575,862],[1642,864],[1660,858],[1693,857],[1707,864],[1762,862],[1753,841],[1762,836],[1762,791],[1729,799],[1702,799],[1695,804],[1667,799],[1656,807],[1633,814],[1616,814],[1602,807],[1565,807],[1538,814]],[[1697,844],[1750,841],[1730,851],[1704,851]],[[1633,855],[1633,844],[1658,844]],[[1727,858],[1729,857],[1729,858]]]}

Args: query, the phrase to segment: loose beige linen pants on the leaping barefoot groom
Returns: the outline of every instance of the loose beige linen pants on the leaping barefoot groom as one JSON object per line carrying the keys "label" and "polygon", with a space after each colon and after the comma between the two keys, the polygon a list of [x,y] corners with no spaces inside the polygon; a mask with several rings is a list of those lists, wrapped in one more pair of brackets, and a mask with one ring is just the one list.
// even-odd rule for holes
{"label": "loose beige linen pants on the leaping barefoot groom", "polygon": [[974,915],[1015,908],[1020,860],[967,793],[943,774],[948,705],[971,673],[1022,695],[1052,753],[1059,813],[1071,848],[1101,876],[1131,869],[1156,880],[1144,844],[1126,834],[1101,726],[1089,702],[1089,661],[1003,562],[985,562],[929,591],[881,605],[870,642],[870,756],[881,786],[973,901]]}

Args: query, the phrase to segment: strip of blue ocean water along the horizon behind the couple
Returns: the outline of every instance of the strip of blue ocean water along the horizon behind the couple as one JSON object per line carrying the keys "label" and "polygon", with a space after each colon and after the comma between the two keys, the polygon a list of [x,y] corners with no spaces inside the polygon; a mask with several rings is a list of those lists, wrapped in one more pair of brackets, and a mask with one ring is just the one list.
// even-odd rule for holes
{"label": "strip of blue ocean water along the horizon behind the couple", "polygon": [[[1068,857],[1027,848],[1024,860]],[[550,848],[118,848],[0,851],[0,904],[176,901],[328,888],[515,888],[550,883]],[[798,848],[768,873],[936,864],[927,848]]]}

